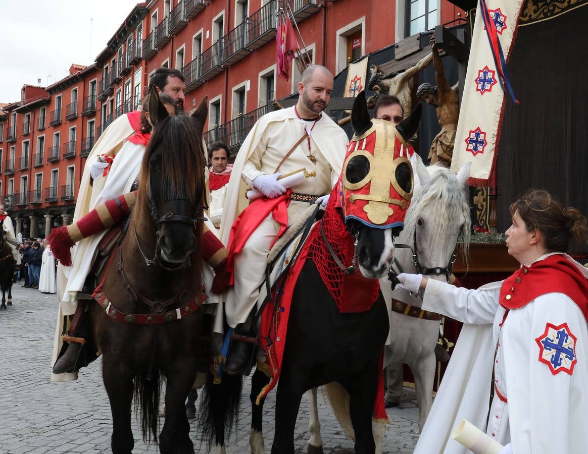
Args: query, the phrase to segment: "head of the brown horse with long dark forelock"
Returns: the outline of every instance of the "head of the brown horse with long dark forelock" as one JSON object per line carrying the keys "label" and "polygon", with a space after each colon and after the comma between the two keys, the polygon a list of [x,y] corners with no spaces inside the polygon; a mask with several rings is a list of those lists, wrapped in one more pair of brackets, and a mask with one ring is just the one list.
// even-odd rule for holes
{"label": "head of the brown horse with long dark forelock", "polygon": [[153,133],[141,173],[139,194],[147,194],[156,225],[156,257],[167,268],[181,267],[198,246],[206,166],[202,129],[206,97],[191,115],[170,116],[155,90],[149,94]]}

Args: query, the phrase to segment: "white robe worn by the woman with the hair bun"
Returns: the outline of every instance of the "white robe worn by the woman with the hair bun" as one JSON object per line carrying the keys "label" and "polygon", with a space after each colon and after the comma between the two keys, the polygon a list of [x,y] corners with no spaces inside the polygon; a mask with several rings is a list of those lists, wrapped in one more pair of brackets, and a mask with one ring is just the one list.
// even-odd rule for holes
{"label": "white robe worn by the woman with the hair bun", "polygon": [[[543,260],[552,254],[544,255]],[[573,261],[568,255],[568,260]],[[588,270],[573,263],[588,278]],[[544,294],[524,307],[509,311],[499,305],[502,283],[477,290],[427,281],[423,309],[463,321],[462,332],[433,407],[416,445],[416,454],[466,454],[469,450],[450,437],[465,418],[481,430],[489,410],[492,366],[496,393],[487,434],[502,445],[512,442],[514,454],[583,454],[588,446],[584,416],[588,411],[588,326],[580,308],[561,293]],[[536,338],[546,324],[567,323],[577,337],[573,374],[552,374],[539,361]],[[494,357],[497,341],[499,347]]]}

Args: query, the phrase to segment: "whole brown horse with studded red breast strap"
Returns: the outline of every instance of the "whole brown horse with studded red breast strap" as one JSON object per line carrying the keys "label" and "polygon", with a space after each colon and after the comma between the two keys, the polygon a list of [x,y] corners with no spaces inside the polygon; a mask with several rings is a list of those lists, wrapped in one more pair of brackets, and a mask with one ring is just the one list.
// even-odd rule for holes
{"label": "whole brown horse with studded red breast strap", "polygon": [[[112,411],[112,452],[131,453],[131,403],[144,440],[158,442],[165,377],[162,453],[193,453],[184,402],[206,351],[202,331],[200,239],[205,157],[203,100],[192,115],[168,116],[155,91],[153,134],[143,156],[126,234],[98,275],[91,317]],[[106,311],[105,311],[106,310]],[[181,320],[179,320],[181,319]]]}

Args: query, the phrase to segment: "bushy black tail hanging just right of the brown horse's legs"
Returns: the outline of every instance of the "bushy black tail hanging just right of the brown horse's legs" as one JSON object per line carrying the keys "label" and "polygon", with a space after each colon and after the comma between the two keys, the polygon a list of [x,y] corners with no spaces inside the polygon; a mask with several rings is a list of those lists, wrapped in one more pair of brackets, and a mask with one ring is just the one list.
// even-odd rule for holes
{"label": "bushy black tail hanging just right of the brown horse's legs", "polygon": [[243,377],[223,374],[220,383],[215,384],[212,374],[208,375],[200,404],[199,422],[202,439],[208,450],[212,442],[224,446],[233,424],[239,418],[239,404],[243,388]]}

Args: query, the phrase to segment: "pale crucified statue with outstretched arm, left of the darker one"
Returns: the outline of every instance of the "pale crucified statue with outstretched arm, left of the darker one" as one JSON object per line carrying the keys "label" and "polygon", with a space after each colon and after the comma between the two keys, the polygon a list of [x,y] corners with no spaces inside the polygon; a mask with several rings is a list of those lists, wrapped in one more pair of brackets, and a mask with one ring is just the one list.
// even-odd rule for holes
{"label": "pale crucified statue with outstretched arm, left of the darker one", "polygon": [[421,70],[425,69],[432,58],[433,54],[429,53],[429,55],[420,59],[412,68],[404,72],[391,72],[386,75],[378,71],[376,65],[370,65],[369,69],[372,76],[369,79],[368,88],[376,93],[396,96],[400,100],[400,106],[402,106],[404,117],[406,118],[412,113],[412,93],[408,85],[409,80]]}

